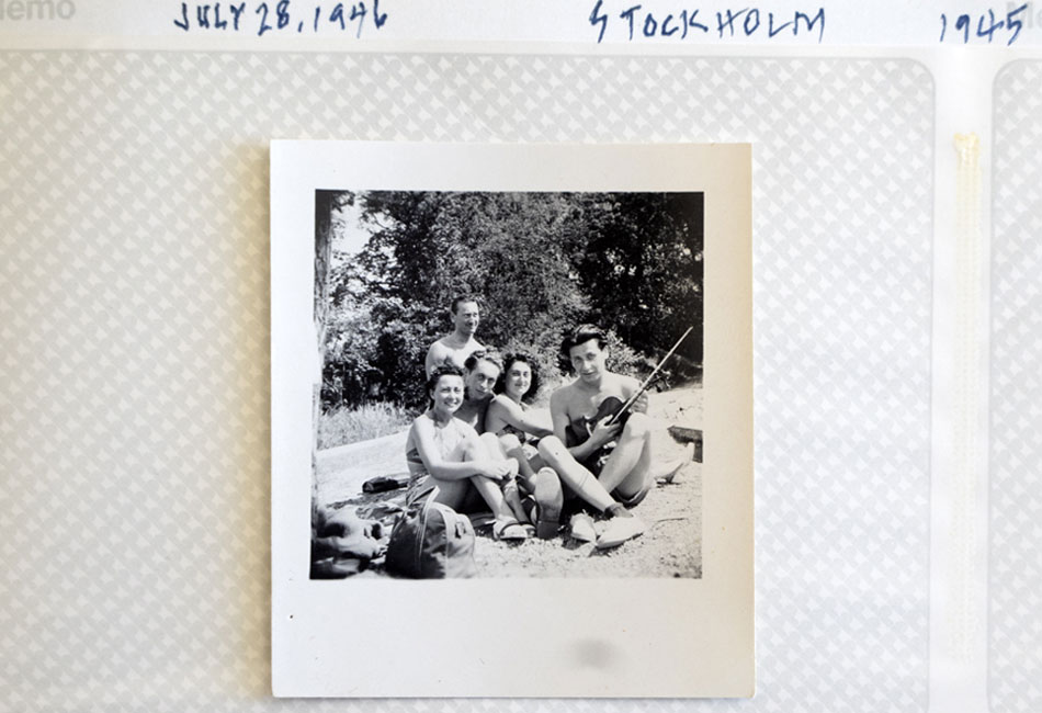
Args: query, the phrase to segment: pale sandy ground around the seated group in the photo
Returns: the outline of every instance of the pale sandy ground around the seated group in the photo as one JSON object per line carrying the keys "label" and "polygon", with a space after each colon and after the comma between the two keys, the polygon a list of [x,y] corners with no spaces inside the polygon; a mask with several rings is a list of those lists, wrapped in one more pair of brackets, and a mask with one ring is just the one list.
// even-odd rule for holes
{"label": "pale sandy ground around the seated group in the photo", "polygon": [[[661,427],[653,444],[657,463],[686,454],[666,432],[668,426],[702,428],[702,391],[698,385],[653,394],[649,415]],[[360,517],[390,524],[405,490],[367,495],[362,484],[377,475],[404,475],[406,431],[319,451],[317,497],[331,509],[354,508]],[[566,533],[553,540],[528,540],[506,544],[492,540],[487,528],[478,529],[475,559],[479,577],[701,577],[702,576],[702,472],[689,462],[671,484],[652,488],[633,513],[647,524],[646,532],[614,550],[598,552],[592,544],[579,545]],[[597,518],[596,518],[597,519]],[[604,522],[598,519],[597,529]],[[389,527],[385,528],[385,536]],[[381,562],[359,577],[387,576]]]}

